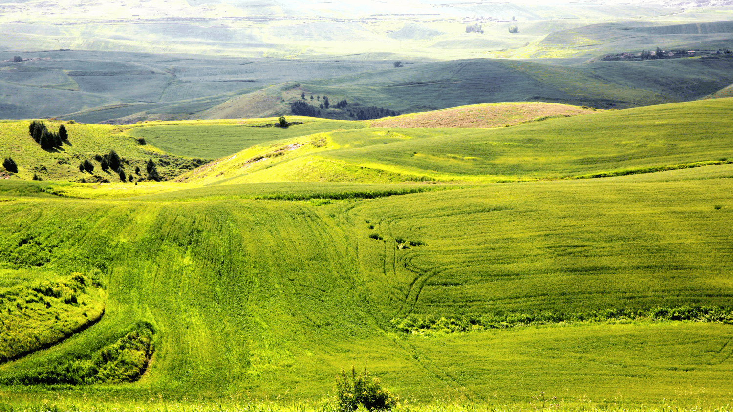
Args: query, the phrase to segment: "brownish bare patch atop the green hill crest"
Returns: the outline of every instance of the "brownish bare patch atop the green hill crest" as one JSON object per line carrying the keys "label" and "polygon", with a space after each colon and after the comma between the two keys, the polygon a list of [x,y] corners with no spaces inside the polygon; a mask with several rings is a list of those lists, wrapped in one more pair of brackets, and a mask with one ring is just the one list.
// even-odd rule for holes
{"label": "brownish bare patch atop the green hill crest", "polygon": [[504,105],[476,105],[427,113],[413,113],[389,119],[378,119],[372,121],[371,125],[372,127],[490,128],[598,112],[593,109],[558,105],[555,103],[509,103]]}

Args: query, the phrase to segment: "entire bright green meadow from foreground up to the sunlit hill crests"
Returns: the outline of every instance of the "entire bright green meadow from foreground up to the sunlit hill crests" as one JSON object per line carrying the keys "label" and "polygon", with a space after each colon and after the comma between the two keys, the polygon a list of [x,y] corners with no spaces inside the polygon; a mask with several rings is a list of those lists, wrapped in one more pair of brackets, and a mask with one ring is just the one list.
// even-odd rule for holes
{"label": "entire bright green meadow from foreground up to the sunlit hill crests", "polygon": [[[0,182],[18,341],[0,408],[331,411],[336,374],[366,364],[397,411],[545,409],[541,393],[726,410],[732,104],[496,129],[65,124],[58,153],[0,123],[23,168]],[[177,181],[50,167],[111,149]],[[176,166],[196,157],[218,159]]]}

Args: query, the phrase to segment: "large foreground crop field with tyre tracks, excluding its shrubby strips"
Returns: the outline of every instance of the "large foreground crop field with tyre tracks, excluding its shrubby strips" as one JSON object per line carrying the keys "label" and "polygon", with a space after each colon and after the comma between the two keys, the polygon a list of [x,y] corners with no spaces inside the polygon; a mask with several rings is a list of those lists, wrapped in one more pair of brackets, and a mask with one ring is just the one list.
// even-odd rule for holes
{"label": "large foreground crop field with tyre tracks, excluding its shrubby strips", "polygon": [[[0,391],[82,405],[158,394],[315,402],[340,368],[368,362],[416,402],[526,405],[544,391],[570,405],[725,405],[733,326],[574,323],[426,338],[389,321],[726,306],[730,176],[732,165],[718,165],[332,203],[246,198],[267,192],[262,184],[201,188],[199,201],[196,190],[118,201],[14,195],[0,233],[45,236],[56,245],[48,271],[100,269],[108,299],[99,323],[0,365],[0,381],[39,375],[141,321],[155,326],[156,349],[136,383]],[[420,244],[400,249],[398,238]]]}

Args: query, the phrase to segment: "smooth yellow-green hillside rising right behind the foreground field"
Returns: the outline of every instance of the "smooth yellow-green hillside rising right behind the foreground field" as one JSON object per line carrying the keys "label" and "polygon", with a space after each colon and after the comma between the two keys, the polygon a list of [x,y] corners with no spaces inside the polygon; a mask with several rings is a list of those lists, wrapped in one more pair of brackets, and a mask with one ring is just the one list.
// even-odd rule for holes
{"label": "smooth yellow-green hillside rising right behind the foreground field", "polygon": [[[184,178],[209,183],[522,181],[726,162],[733,156],[726,137],[732,125],[725,114],[732,104],[725,99],[677,103],[496,130],[333,131],[283,141],[279,147],[254,147]],[[507,124],[509,118],[502,121]]]}

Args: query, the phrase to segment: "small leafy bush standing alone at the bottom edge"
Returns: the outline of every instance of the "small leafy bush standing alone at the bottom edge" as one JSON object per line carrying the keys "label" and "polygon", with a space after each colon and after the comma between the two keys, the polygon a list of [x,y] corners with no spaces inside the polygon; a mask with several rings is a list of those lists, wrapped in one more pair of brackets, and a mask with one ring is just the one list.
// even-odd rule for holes
{"label": "small leafy bush standing alone at the bottom edge", "polygon": [[345,370],[336,376],[336,405],[342,411],[355,411],[359,405],[370,411],[385,410],[393,408],[396,403],[397,397],[383,389],[379,379],[369,375],[366,365],[361,375],[351,367],[351,379]]}

